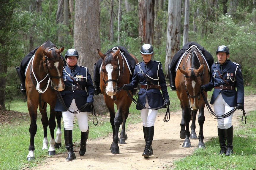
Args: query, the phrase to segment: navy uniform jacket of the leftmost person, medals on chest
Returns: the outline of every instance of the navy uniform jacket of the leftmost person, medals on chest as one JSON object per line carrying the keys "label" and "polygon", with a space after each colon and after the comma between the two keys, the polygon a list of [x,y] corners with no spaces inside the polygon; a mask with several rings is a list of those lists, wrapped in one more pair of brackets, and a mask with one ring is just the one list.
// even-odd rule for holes
{"label": "navy uniform jacket of the leftmost person, medals on chest", "polygon": [[[63,80],[64,80],[64,84],[65,84],[65,88],[67,87],[71,87],[72,85],[76,85],[75,82],[69,77],[69,75],[71,74],[71,69],[69,67],[64,67],[63,69]],[[76,106],[78,107],[78,109],[80,107],[82,107],[85,103],[87,102],[93,102],[93,96],[94,96],[94,86],[93,86],[93,82],[91,80],[91,75],[88,71],[87,67],[79,67],[76,66],[75,69],[75,73],[74,73],[74,79],[76,80],[76,76],[77,75],[83,75],[83,81],[78,81],[80,86],[82,87],[86,87],[86,90],[63,90],[61,92],[61,96],[64,100],[65,105],[67,106],[67,108],[69,108],[69,106],[71,105],[71,102],[73,100],[73,98],[75,99],[75,103]],[[66,79],[66,81],[65,81]],[[82,79],[81,79],[82,80]],[[77,85],[76,85],[77,86]],[[60,103],[59,99],[56,102],[55,111],[67,111],[64,106],[62,106],[62,104]],[[90,112],[92,111],[91,106],[87,106],[85,109],[80,110],[80,111],[87,111]]]}

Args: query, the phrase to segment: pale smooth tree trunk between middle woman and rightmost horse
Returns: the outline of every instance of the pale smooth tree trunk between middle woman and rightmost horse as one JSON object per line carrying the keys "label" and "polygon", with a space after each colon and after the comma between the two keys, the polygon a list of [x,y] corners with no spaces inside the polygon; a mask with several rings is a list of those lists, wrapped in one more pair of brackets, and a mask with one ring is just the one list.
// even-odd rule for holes
{"label": "pale smooth tree trunk between middle woman and rightmost horse", "polygon": [[165,57],[165,71],[171,62],[174,54],[180,49],[181,38],[181,1],[169,0],[168,2],[168,22],[167,22],[167,44]]}

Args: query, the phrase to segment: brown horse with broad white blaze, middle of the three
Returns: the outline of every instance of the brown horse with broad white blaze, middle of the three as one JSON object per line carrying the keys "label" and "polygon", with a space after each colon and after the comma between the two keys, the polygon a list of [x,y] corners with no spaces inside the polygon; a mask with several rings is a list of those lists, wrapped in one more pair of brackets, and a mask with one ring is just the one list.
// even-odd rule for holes
{"label": "brown horse with broad white blaze, middle of the three", "polygon": [[[100,89],[104,95],[105,104],[110,113],[110,124],[113,131],[113,142],[110,146],[112,154],[119,153],[118,144],[125,144],[127,135],[125,134],[125,122],[129,114],[129,107],[132,99],[128,96],[126,90],[120,90],[120,87],[130,82],[129,66],[126,59],[120,53],[120,48],[116,51],[110,50],[106,54],[98,50],[99,56],[102,58],[101,74],[100,74]],[[135,59],[135,56],[130,54]],[[132,70],[133,72],[133,70]],[[114,103],[117,106],[117,113],[115,116]],[[120,139],[118,141],[118,131],[121,126]]]}

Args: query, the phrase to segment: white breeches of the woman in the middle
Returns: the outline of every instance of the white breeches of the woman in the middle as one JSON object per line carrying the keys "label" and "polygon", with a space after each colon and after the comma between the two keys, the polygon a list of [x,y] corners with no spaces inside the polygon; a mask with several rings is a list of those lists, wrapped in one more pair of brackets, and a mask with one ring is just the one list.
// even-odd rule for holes
{"label": "white breeches of the woman in the middle", "polygon": [[[146,97],[145,107],[150,108],[148,105],[148,98]],[[152,127],[155,124],[157,117],[157,110],[155,109],[142,109],[140,110],[142,122],[144,127]]]}

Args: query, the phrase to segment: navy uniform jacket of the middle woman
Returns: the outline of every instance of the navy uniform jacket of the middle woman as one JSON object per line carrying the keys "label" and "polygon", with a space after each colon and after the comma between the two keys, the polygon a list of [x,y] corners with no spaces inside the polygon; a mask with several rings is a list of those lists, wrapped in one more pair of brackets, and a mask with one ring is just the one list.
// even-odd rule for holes
{"label": "navy uniform jacket of the middle woman", "polygon": [[[138,83],[141,85],[150,85],[150,83],[145,79],[145,77],[142,75],[142,72],[140,71],[140,68],[144,72],[145,75],[148,75],[148,79],[151,80],[154,85],[159,85],[161,87],[162,93],[159,89],[144,89],[140,88],[140,91],[138,93],[138,103],[140,103],[142,106],[145,106],[146,103],[146,96],[148,97],[148,104],[151,108],[157,108],[160,106],[163,106],[164,99],[169,99],[169,95],[167,92],[167,86],[165,82],[165,75],[162,69],[162,64],[159,61],[150,61],[148,63],[148,69],[146,71],[145,69],[145,63],[141,61],[140,63],[136,64],[135,70],[132,77],[132,82],[130,82],[128,85],[128,89],[134,89],[137,87]],[[143,109],[141,106],[136,106],[137,110]]]}

